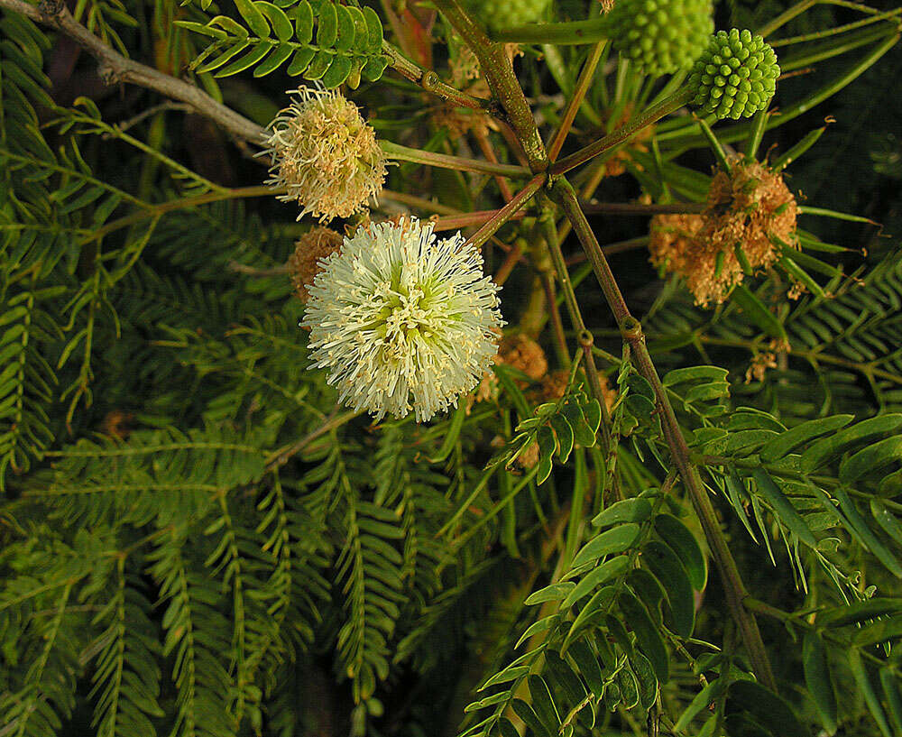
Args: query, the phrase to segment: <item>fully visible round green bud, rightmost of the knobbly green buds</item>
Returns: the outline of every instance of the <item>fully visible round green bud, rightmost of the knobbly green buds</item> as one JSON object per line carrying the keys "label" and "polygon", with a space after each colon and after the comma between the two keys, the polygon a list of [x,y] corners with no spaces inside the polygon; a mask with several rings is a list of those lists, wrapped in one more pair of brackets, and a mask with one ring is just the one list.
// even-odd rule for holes
{"label": "fully visible round green bud, rightmost of the knobbly green buds", "polygon": [[688,85],[705,113],[739,120],[767,109],[779,76],[777,54],[764,39],[733,28],[711,37]]}

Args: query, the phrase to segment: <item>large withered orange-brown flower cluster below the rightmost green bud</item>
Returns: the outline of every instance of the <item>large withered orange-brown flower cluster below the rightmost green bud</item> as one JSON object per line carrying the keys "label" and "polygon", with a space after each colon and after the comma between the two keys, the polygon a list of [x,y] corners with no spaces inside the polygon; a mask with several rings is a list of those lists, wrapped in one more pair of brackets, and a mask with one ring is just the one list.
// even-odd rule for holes
{"label": "large withered orange-brown flower cluster below the rightmost green bud", "polygon": [[732,161],[718,171],[701,215],[659,215],[651,221],[651,261],[686,279],[695,302],[722,302],[742,281],[737,250],[755,271],[779,258],[779,244],[797,247],[796,198],[758,161]]}

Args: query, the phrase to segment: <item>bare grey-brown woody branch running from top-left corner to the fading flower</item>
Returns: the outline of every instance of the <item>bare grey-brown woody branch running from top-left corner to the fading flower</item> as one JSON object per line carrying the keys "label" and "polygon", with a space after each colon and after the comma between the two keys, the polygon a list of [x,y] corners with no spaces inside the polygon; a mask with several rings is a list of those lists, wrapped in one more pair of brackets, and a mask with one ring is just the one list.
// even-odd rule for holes
{"label": "bare grey-brown woody branch running from top-left corner to the fading flower", "polygon": [[138,87],[152,89],[165,97],[188,104],[199,115],[210,118],[238,138],[253,143],[262,142],[264,135],[262,126],[216,102],[201,88],[189,82],[170,77],[170,75],[163,74],[139,61],[126,59],[88,31],[85,26],[78,23],[62,0],[44,0],[37,7],[23,2],[23,0],[0,0],[0,7],[21,13],[31,18],[32,21],[49,25],[51,28],[65,33],[97,59],[100,78],[107,85],[128,82]]}

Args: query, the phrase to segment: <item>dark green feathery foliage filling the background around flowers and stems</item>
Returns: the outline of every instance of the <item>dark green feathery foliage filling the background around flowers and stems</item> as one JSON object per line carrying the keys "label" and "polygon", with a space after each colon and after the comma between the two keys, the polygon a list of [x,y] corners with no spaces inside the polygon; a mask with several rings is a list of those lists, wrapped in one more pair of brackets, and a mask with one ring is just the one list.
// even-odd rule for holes
{"label": "dark green feathery foliage filling the background around flowers and stems", "polygon": [[[259,124],[300,77],[355,90],[383,139],[518,161],[497,125],[428,97],[410,69],[383,76],[388,35],[488,94],[427,4],[198,5],[74,12]],[[633,48],[624,32],[614,55],[599,49],[567,147],[685,81],[709,7],[670,5],[686,12],[646,19],[670,36]],[[760,29],[786,9],[755,5],[718,13]],[[548,14],[598,11],[566,0]],[[483,255],[498,272],[523,254],[502,291],[506,329],[538,336],[548,371],[496,364],[480,401],[426,425],[373,424],[308,370],[283,265],[311,224],[259,187],[248,144],[148,90],[101,94],[87,53],[69,63],[60,33],[0,10],[0,737],[900,733],[902,256],[869,219],[898,220],[897,115],[869,113],[896,104],[880,74],[898,69],[897,15],[830,30],[861,12],[819,6],[765,33],[794,75],[778,82],[779,115],[707,133],[675,115],[573,175],[587,200],[693,210],[736,146],[807,196],[800,247],[775,246],[776,270],[715,309],[654,279],[635,248],[647,218],[592,223],[775,690],[677,473],[655,377],[575,239],[562,250],[592,336],[577,348],[575,321],[562,336],[543,322],[549,294],[567,307],[559,278],[542,283],[544,200]],[[523,50],[515,69],[548,141],[591,52]],[[839,102],[799,117],[825,99]],[[828,114],[839,123],[824,127]],[[491,176],[410,162],[387,187],[373,219],[408,202],[424,217],[504,204]],[[358,222],[333,227],[345,225]],[[608,392],[588,380],[590,357]]]}

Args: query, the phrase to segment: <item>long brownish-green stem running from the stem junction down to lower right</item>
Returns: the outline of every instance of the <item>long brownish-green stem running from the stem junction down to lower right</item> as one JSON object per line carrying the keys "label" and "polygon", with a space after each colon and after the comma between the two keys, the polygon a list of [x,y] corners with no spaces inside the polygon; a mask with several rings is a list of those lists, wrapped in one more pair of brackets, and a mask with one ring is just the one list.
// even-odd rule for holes
{"label": "long brownish-green stem running from the stem junction down to lower right", "polygon": [[683,479],[683,484],[686,486],[686,491],[689,493],[693,507],[695,507],[695,513],[698,515],[698,520],[704,530],[705,539],[707,539],[708,546],[711,548],[714,563],[723,581],[723,590],[726,594],[732,618],[741,631],[742,640],[749,651],[749,658],[755,674],[759,677],[762,684],[773,689],[775,687],[774,677],[770,669],[767,651],[764,649],[764,643],[761,640],[758,623],[755,622],[754,616],[742,603],[748,592],[745,584],[742,582],[739,569],[736,567],[736,561],[732,557],[727,540],[723,535],[723,530],[721,530],[720,521],[717,519],[711,499],[704,488],[701,476],[698,474],[698,469],[690,461],[686,439],[683,438],[673,407],[667,399],[667,392],[658,377],[658,371],[651,361],[648,346],[645,345],[645,336],[642,334],[641,323],[630,315],[630,309],[627,307],[621,290],[614,280],[611,267],[608,265],[607,259],[604,258],[604,253],[595,238],[592,227],[589,225],[588,220],[585,219],[583,211],[579,208],[573,187],[566,180],[560,179],[555,182],[555,187],[552,189],[551,194],[564,210],[565,215],[573,225],[576,236],[579,238],[580,243],[583,244],[583,249],[589,259],[589,263],[593,265],[595,276],[602,287],[605,299],[607,299],[614,317],[617,319],[617,324],[621,328],[621,336],[630,345],[636,369],[651,384],[655,392],[658,412],[661,418],[661,428],[667,441],[667,447],[670,449],[670,456],[673,458],[674,464]]}

